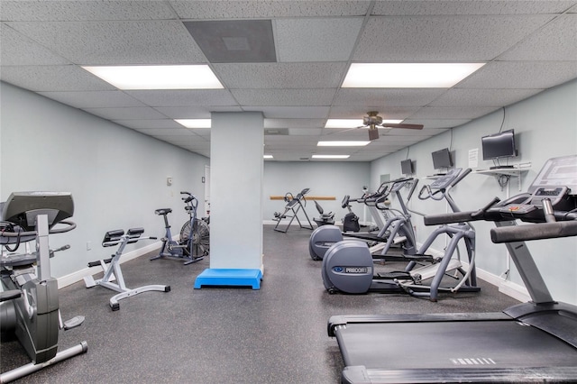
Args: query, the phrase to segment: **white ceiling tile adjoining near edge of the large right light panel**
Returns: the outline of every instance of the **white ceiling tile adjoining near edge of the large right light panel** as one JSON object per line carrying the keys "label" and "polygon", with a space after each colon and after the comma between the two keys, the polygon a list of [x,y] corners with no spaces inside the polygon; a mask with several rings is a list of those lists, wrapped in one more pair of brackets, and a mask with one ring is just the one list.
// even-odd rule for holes
{"label": "white ceiling tile adjoining near edge of the large right light panel", "polygon": [[488,61],[550,15],[371,17],[355,61]]}

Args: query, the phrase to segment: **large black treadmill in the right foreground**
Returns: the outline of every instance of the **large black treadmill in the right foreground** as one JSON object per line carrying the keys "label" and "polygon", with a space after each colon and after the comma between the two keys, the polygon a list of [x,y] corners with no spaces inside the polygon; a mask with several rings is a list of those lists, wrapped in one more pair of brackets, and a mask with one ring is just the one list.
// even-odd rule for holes
{"label": "large black treadmill in the right foreground", "polygon": [[491,241],[507,245],[531,301],[499,313],[334,315],[343,383],[577,382],[577,306],[554,301],[525,243],[577,235],[577,155],[547,160],[527,193],[426,224],[474,220],[495,222]]}

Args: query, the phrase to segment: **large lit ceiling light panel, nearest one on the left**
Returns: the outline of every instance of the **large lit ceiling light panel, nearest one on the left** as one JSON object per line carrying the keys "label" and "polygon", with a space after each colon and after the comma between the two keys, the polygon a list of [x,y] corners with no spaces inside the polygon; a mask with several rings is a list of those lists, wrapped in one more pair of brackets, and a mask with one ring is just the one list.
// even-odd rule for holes
{"label": "large lit ceiling light panel, nearest one on the left", "polygon": [[118,89],[219,89],[207,65],[82,67]]}

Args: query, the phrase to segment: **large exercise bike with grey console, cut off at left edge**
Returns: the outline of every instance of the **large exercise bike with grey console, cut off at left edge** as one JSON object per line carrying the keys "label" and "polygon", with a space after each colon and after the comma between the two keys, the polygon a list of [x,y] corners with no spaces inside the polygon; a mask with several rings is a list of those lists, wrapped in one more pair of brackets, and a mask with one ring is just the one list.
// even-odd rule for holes
{"label": "large exercise bike with grey console, cut off at left edge", "polygon": [[[63,322],[60,316],[58,281],[50,276],[49,235],[67,233],[76,224],[67,220],[74,213],[67,192],[14,192],[2,209],[0,270],[0,329],[15,334],[30,357],[29,364],[0,375],[5,383],[87,352],[87,342],[58,352],[60,329],[82,325],[84,316]],[[30,246],[30,242],[32,246]],[[15,253],[23,245],[22,253]],[[36,268],[34,268],[36,265]]]}

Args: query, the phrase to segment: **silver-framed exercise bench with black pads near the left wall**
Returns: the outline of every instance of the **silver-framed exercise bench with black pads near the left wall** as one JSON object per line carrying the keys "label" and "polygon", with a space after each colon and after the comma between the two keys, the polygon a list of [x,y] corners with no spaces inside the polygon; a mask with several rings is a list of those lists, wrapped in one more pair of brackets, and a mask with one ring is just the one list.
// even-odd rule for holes
{"label": "silver-framed exercise bench with black pads near the left wall", "polygon": [[[110,259],[105,259],[101,261],[92,261],[88,263],[88,267],[102,267],[105,274],[102,279],[94,279],[92,276],[87,276],[84,278],[84,283],[87,288],[92,288],[95,286],[101,286],[108,289],[112,289],[118,294],[110,298],[109,304],[113,311],[120,309],[119,300],[126,297],[133,297],[142,292],[148,292],[152,290],[160,292],[170,292],[170,286],[163,285],[148,285],[139,288],[127,288],[124,283],[123,271],[120,268],[120,258],[123,254],[124,247],[133,242],[138,242],[140,240],[151,239],[155,240],[156,237],[142,237],[144,229],[142,228],[131,228],[126,233],[124,230],[117,229],[114,231],[108,231],[105,233],[105,238],[102,241],[103,247],[112,247],[117,245],[118,248],[114,255]],[[115,280],[115,282],[114,282]]]}

